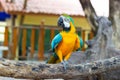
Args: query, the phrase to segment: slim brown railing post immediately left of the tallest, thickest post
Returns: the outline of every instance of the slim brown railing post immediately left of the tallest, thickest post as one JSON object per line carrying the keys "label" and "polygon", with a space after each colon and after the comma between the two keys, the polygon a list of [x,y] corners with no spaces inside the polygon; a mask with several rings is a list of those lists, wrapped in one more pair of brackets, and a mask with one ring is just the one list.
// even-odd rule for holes
{"label": "slim brown railing post immediately left of the tallest, thickest post", "polygon": [[34,54],[34,47],[35,47],[35,29],[32,29],[31,31],[31,54],[30,54],[30,58],[33,58],[33,54]]}

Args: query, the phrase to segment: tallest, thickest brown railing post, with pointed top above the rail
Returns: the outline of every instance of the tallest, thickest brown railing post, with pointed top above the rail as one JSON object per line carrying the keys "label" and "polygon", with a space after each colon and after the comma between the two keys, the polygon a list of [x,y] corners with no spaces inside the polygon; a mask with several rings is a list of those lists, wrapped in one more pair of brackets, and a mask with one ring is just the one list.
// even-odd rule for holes
{"label": "tallest, thickest brown railing post, with pointed top above the rail", "polygon": [[38,59],[44,60],[44,22],[41,22],[40,32],[39,32],[39,41],[38,41]]}

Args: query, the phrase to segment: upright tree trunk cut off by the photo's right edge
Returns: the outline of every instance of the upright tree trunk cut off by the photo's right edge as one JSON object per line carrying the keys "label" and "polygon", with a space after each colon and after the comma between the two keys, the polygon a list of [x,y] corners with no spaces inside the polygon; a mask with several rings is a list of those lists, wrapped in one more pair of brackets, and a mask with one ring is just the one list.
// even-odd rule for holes
{"label": "upright tree trunk cut off by the photo's right edge", "polygon": [[115,47],[120,49],[120,0],[109,0],[110,1],[110,19],[113,24],[113,42]]}

